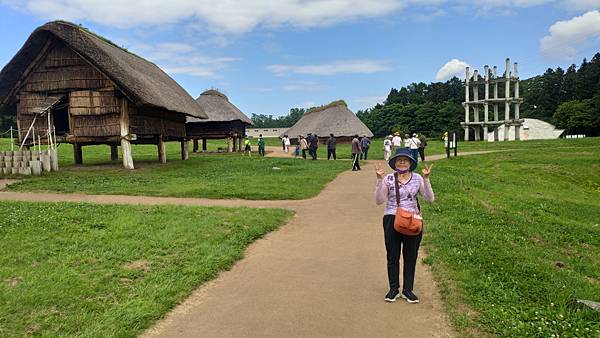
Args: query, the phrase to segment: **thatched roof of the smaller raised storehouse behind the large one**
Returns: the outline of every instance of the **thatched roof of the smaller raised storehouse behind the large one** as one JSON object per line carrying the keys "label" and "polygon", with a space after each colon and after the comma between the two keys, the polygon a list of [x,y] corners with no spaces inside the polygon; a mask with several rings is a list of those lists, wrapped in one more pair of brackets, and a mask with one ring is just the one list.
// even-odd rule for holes
{"label": "thatched roof of the smaller raised storehouse behind the large one", "polygon": [[253,125],[252,120],[244,115],[241,110],[229,102],[225,94],[210,89],[200,94],[196,102],[202,107],[208,119],[197,119],[188,117],[187,122],[230,122],[239,120],[248,125]]}

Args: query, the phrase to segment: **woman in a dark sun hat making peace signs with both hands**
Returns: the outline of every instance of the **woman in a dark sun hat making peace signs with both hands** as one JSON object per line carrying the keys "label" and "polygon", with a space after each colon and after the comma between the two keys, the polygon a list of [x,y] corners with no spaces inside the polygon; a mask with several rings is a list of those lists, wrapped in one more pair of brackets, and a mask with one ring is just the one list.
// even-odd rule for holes
{"label": "woman in a dark sun hat making peace signs with both hands", "polygon": [[[413,293],[415,279],[415,268],[419,245],[423,232],[416,236],[403,235],[394,229],[396,218],[396,177],[398,179],[398,192],[400,207],[420,214],[417,194],[421,193],[425,201],[433,202],[434,194],[429,183],[429,174],[432,166],[425,166],[423,176],[413,173],[417,167],[417,161],[409,149],[398,149],[396,154],[388,161],[394,173],[385,175],[383,169],[375,166],[377,174],[377,185],[375,188],[375,203],[386,202],[383,216],[383,231],[385,236],[385,249],[387,252],[387,272],[390,291],[385,295],[385,300],[394,302],[398,297],[406,299],[409,303],[418,303],[419,298]],[[402,293],[400,293],[400,250],[404,266],[402,269],[403,282]]]}

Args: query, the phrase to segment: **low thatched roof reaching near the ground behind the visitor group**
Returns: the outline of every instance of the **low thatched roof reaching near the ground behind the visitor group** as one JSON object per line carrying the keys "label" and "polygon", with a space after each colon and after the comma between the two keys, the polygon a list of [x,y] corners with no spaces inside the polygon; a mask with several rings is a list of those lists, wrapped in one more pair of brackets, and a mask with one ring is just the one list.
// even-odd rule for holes
{"label": "low thatched roof reaching near the ground behind the visitor group", "polygon": [[297,135],[306,135],[308,133],[317,134],[319,137],[326,137],[329,134],[334,134],[336,137],[354,135],[373,137],[373,133],[369,128],[348,109],[346,102],[342,100],[322,107],[309,109],[284,134],[296,137]]}

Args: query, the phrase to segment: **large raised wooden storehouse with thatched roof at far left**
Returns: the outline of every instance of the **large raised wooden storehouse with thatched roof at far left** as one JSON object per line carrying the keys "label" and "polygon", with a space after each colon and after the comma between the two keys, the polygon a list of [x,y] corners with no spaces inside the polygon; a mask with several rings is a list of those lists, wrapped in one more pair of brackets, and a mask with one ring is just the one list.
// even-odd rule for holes
{"label": "large raised wooden storehouse with thatched roof at far left", "polygon": [[76,163],[82,146],[108,144],[115,159],[120,145],[129,169],[132,143],[156,144],[165,162],[164,142],[180,141],[187,158],[186,116],[207,117],[155,64],[64,21],[37,28],[2,69],[0,114],[16,114],[22,143],[33,126],[73,144]]}

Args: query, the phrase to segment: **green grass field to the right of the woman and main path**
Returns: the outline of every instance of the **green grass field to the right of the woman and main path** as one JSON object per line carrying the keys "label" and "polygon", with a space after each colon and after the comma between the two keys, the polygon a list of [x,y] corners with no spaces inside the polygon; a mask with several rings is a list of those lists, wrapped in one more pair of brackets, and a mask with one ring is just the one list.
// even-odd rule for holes
{"label": "green grass field to the right of the woman and main path", "polygon": [[426,263],[464,335],[598,337],[600,139],[514,145],[435,163]]}

